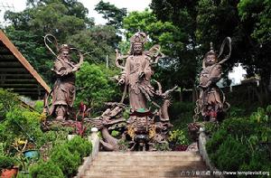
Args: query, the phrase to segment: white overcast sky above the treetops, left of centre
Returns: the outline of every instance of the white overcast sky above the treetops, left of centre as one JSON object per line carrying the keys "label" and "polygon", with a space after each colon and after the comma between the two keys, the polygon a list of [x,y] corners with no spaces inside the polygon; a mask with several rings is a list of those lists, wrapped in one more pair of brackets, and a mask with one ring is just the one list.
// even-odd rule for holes
{"label": "white overcast sky above the treetops, left of centre", "polygon": [[[106,20],[102,18],[101,14],[94,11],[95,5],[98,4],[100,0],[78,0],[85,7],[89,9],[89,17],[95,18],[95,23],[104,24]],[[126,7],[128,12],[131,11],[144,11],[145,8],[149,7],[151,0],[104,0],[104,2],[109,2],[110,4],[116,5],[118,8]],[[0,15],[1,23],[4,23],[3,15],[5,10],[10,9],[11,11],[21,12],[25,9],[26,0],[0,0]],[[8,8],[7,6],[12,6]],[[13,8],[14,7],[14,8]]]}

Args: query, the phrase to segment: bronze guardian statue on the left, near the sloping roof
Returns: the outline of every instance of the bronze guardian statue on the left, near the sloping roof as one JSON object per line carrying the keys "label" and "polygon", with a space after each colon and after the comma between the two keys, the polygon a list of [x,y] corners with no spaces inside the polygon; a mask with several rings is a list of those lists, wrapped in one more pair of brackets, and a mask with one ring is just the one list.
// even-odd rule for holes
{"label": "bronze guardian statue on the left, near the sloping roof", "polygon": [[[52,37],[55,40],[56,48],[59,52],[58,55],[55,55],[46,43],[46,41],[51,42],[49,37]],[[51,34],[47,34],[44,37],[44,42],[48,49],[56,56],[52,69],[56,75],[56,81],[51,90],[52,104],[49,113],[50,115],[55,116],[57,120],[65,120],[70,114],[70,109],[72,108],[75,99],[75,72],[79,70],[81,63],[83,62],[83,55],[68,44],[59,46],[55,37]],[[70,52],[74,50],[79,52],[78,64],[75,64],[70,58]]]}

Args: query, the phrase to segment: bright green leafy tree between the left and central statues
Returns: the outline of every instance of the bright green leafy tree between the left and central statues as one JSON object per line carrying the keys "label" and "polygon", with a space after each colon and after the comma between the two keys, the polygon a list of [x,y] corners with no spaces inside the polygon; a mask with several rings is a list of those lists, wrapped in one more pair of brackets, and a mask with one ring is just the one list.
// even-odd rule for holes
{"label": "bright green leafy tree between the left and central statues", "polygon": [[[117,95],[117,84],[109,80],[111,72],[102,66],[85,62],[77,72],[77,86],[80,89],[77,94],[77,101],[84,101],[89,108],[99,110],[105,101],[113,100]],[[116,99],[116,98],[115,98]]]}

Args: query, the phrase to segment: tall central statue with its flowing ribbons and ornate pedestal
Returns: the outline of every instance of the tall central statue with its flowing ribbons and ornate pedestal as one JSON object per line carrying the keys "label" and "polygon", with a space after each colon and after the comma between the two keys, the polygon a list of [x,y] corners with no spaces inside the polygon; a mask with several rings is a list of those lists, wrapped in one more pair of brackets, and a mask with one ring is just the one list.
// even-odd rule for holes
{"label": "tall central statue with its flowing ribbons and ornate pedestal", "polygon": [[[149,51],[145,51],[146,40],[145,33],[135,33],[130,39],[128,55],[120,55],[117,52],[116,58],[117,67],[123,70],[118,83],[125,84],[120,104],[124,102],[126,90],[129,96],[130,116],[126,120],[124,135],[126,140],[130,141],[128,146],[130,150],[154,150],[155,144],[165,144],[169,128],[173,126],[170,124],[167,108],[170,105],[169,94],[176,87],[163,93],[161,84],[156,81],[158,90],[154,90],[151,85],[151,77],[154,74],[152,65],[164,57],[164,54],[160,52],[159,45],[154,45]],[[122,66],[120,62],[124,59],[126,62]],[[154,97],[162,99],[163,105],[159,106],[154,101]],[[152,105],[147,106],[147,101]],[[150,109],[153,106],[156,108],[154,111]]]}

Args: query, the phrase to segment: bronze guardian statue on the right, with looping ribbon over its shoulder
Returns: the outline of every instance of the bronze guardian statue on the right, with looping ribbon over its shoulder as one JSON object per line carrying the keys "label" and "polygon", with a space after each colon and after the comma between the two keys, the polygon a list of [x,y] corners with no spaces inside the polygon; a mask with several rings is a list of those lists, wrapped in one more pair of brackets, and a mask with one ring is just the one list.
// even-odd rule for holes
{"label": "bronze guardian statue on the right, with looping ribbon over its shoulder", "polygon": [[[219,61],[224,50],[224,45],[229,42],[229,54],[225,59]],[[207,52],[202,61],[200,74],[200,98],[197,101],[201,116],[206,121],[217,121],[218,115],[229,108],[229,103],[225,101],[222,90],[217,86],[221,78],[221,64],[227,61],[231,52],[231,40],[227,37],[221,45],[220,55],[218,56],[210,43],[210,52]],[[196,113],[197,114],[197,113]]]}

